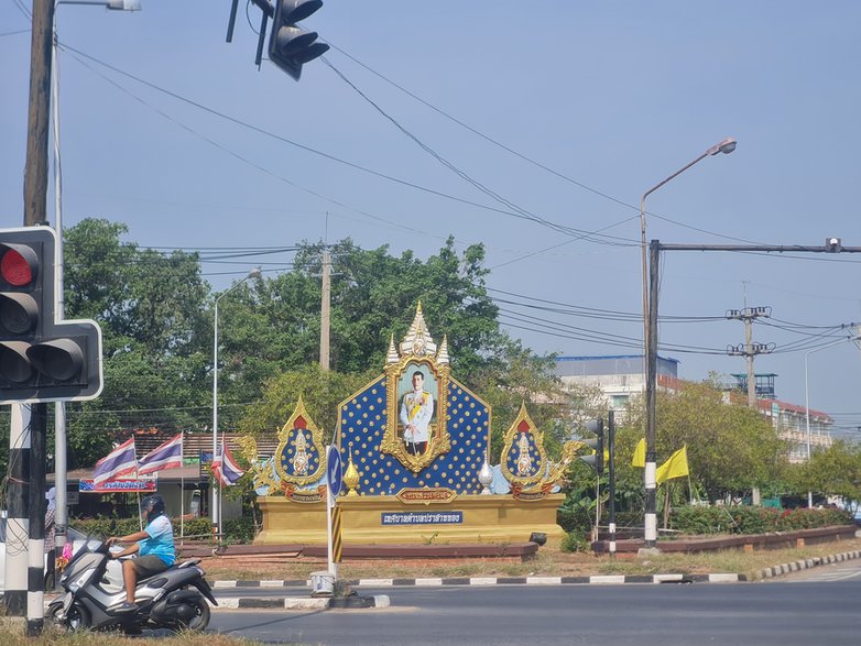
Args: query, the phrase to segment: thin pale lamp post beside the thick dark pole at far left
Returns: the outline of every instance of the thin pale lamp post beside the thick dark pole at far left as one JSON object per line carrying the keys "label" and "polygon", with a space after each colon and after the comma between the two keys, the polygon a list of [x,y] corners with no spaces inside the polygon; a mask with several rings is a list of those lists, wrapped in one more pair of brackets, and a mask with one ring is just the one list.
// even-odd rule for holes
{"label": "thin pale lamp post beside the thick dark pole at far left", "polygon": [[[57,0],[61,4],[90,4],[115,11],[140,11],[140,0]],[[54,273],[54,313],[56,320],[65,318],[65,298],[63,293],[63,167],[59,156],[59,47],[57,46],[57,22],[54,14],[51,58],[51,120],[54,130],[54,229],[57,232],[57,266]],[[55,545],[63,547],[68,533],[68,506],[66,488],[68,482],[66,458],[66,404],[57,402],[54,408],[54,486],[56,510],[54,512]]]}

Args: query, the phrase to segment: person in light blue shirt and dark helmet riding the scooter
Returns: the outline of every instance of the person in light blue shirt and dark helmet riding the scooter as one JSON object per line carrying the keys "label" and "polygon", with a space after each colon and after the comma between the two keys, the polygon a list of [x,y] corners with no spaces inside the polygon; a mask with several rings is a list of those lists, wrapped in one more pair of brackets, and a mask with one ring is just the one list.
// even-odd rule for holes
{"label": "person in light blue shirt and dark helmet riding the scooter", "polygon": [[128,536],[111,536],[106,541],[108,546],[115,543],[131,543],[122,551],[111,554],[118,559],[138,552],[138,558],[128,559],[122,563],[122,578],[126,587],[126,602],[117,612],[134,612],[134,588],[138,581],[165,571],[176,560],[173,544],[173,526],[164,511],[164,499],[157,494],[148,495],[141,501],[141,513],[146,519],[143,532]]}

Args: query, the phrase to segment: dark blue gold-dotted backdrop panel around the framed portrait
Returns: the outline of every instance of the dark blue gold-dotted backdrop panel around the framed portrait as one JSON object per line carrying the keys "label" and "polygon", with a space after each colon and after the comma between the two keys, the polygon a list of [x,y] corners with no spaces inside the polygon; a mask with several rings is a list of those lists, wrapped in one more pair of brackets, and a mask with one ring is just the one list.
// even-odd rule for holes
{"label": "dark blue gold-dotted backdrop panel around the framed portrait", "polygon": [[[380,451],[388,420],[385,376],[357,393],[340,409],[341,458],[350,453],[359,471],[360,495],[395,495],[405,488],[447,488],[459,494],[479,493],[478,473],[489,435],[488,406],[455,380],[448,388],[448,434],[451,449],[418,473]],[[396,424],[396,420],[392,420]]]}

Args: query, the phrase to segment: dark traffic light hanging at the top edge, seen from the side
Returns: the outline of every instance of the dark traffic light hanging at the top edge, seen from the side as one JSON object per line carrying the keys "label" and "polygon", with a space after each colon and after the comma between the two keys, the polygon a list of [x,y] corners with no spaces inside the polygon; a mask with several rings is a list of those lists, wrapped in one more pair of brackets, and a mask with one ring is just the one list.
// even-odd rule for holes
{"label": "dark traffic light hanging at the top edge, seen from the side", "polygon": [[298,80],[302,65],[323,56],[329,46],[317,42],[317,32],[296,25],[323,7],[323,0],[275,0],[269,59]]}

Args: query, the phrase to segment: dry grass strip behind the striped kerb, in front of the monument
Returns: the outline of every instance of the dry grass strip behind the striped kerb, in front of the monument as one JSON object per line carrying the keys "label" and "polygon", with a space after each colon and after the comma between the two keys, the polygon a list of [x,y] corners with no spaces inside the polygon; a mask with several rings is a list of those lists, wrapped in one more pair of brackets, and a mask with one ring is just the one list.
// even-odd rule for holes
{"label": "dry grass strip behind the striped kerb, in front of the monument", "polygon": [[[699,554],[665,552],[645,558],[635,555],[609,556],[563,552],[558,546],[546,545],[533,560],[514,559],[403,559],[348,560],[338,567],[339,579],[394,579],[423,577],[581,577],[590,574],[655,574],[655,573],[740,573],[756,578],[760,570],[771,566],[825,557],[861,549],[861,539],[841,540],[802,548],[745,552],[722,550]],[[207,578],[212,580],[304,580],[310,572],[325,570],[325,560],[285,559],[284,562],[255,566],[236,560],[207,558],[201,563]]]}

